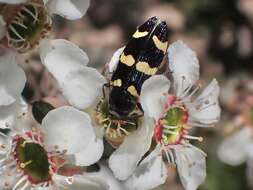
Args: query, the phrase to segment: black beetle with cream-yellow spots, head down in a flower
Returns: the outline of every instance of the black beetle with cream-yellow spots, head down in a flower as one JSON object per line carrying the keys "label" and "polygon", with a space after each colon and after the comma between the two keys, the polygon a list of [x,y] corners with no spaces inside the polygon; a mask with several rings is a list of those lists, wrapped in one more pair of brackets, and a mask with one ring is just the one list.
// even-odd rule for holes
{"label": "black beetle with cream-yellow spots, head down in a flower", "polygon": [[143,83],[156,74],[167,52],[169,29],[157,17],[140,25],[120,55],[110,80],[109,112],[128,117],[138,104]]}

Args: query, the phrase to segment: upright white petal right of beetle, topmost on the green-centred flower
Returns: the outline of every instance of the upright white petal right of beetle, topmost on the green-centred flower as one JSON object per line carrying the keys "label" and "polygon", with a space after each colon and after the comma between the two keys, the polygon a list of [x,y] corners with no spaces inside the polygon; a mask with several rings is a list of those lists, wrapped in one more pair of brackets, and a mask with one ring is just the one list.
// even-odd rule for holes
{"label": "upright white petal right of beetle, topmost on the green-centred flower", "polygon": [[182,41],[176,41],[169,46],[168,56],[176,95],[180,97],[199,79],[198,59],[195,52]]}

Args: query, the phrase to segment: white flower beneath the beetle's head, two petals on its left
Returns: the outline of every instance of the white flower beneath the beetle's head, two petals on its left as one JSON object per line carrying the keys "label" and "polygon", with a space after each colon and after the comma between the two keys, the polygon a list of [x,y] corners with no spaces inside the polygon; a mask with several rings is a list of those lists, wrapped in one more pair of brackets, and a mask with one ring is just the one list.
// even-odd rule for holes
{"label": "white flower beneath the beetle's head, two petals on its left", "polygon": [[[108,102],[104,101],[103,96],[103,86],[108,82],[96,69],[87,66],[89,60],[86,53],[71,42],[61,39],[44,41],[41,48],[42,63],[58,81],[64,97],[78,109],[89,109],[93,125],[98,129],[96,131],[105,128],[105,136],[117,141],[118,137],[130,133],[122,127],[122,123],[136,128],[135,120],[121,120],[118,125],[120,122],[111,121],[102,113],[104,110],[101,109],[108,112]],[[111,62],[118,60],[118,56],[119,53],[115,53]],[[112,125],[116,125],[116,129]],[[98,136],[102,138],[103,134]]]}

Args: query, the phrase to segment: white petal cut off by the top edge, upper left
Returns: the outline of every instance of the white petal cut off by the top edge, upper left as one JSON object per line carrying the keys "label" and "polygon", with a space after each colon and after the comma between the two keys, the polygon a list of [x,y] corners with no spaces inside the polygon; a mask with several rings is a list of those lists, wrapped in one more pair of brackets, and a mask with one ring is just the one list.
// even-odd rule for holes
{"label": "white petal cut off by the top edge, upper left", "polygon": [[47,7],[51,14],[76,20],[83,17],[90,6],[90,0],[51,0]]}

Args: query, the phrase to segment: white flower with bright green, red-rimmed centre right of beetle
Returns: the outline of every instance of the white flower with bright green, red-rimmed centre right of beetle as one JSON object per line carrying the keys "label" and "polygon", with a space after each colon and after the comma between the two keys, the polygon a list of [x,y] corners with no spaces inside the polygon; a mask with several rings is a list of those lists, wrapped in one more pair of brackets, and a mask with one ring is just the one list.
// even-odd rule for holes
{"label": "white flower with bright green, red-rimmed centre right of beetle", "polygon": [[[194,87],[199,77],[196,55],[181,41],[169,47],[168,55],[174,94],[168,93],[170,82],[165,76],[156,75],[144,82],[140,102],[144,113],[154,118],[155,122],[145,125],[146,133],[141,132],[138,140],[127,137],[109,160],[116,177],[127,180],[132,189],[150,189],[164,183],[167,171],[162,155],[168,163],[177,165],[182,184],[187,190],[196,189],[206,176],[205,153],[189,143],[189,140],[202,141],[202,137],[190,136],[188,130],[194,126],[207,127],[219,120],[219,86],[213,80],[193,99],[198,90]],[[149,147],[152,135],[157,142],[156,149],[137,166],[144,150],[149,149],[143,147]]]}

